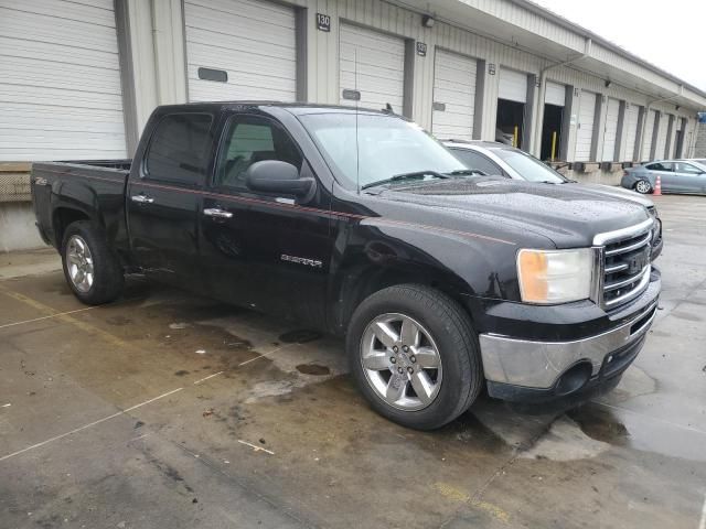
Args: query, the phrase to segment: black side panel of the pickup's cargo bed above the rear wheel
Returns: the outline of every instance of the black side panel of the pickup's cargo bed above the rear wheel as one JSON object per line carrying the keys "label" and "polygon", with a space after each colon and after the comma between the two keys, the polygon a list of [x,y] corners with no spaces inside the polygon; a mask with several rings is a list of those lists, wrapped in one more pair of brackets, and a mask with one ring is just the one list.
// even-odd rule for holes
{"label": "black side panel of the pickup's cargo bed above the rear wheel", "polygon": [[[32,199],[45,242],[58,248],[62,230],[83,212],[97,218],[119,250],[127,248],[125,192],[131,160],[82,160],[32,164]],[[74,212],[74,213],[68,213]]]}

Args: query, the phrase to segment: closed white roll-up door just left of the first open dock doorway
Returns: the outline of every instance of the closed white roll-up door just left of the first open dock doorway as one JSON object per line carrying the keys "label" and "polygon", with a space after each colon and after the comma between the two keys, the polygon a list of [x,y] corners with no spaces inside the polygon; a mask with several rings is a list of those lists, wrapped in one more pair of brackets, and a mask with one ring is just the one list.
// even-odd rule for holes
{"label": "closed white roll-up door just left of the first open dock doorway", "polygon": [[431,131],[438,138],[473,139],[475,114],[474,58],[436,51]]}

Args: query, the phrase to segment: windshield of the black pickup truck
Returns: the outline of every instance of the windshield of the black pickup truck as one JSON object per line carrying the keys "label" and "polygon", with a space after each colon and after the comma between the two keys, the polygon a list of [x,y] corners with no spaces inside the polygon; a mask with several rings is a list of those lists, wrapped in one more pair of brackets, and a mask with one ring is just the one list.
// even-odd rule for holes
{"label": "windshield of the black pickup truck", "polygon": [[[336,176],[352,188],[404,183],[394,176],[449,174],[467,168],[421,127],[395,116],[329,112],[300,117]],[[357,148],[356,148],[357,132]],[[408,180],[407,180],[408,182]]]}

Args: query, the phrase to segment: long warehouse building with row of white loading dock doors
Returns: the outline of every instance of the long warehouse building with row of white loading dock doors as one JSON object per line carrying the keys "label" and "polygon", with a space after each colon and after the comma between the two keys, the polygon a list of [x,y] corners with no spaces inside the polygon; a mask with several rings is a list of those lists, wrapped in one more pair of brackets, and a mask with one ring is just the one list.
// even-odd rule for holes
{"label": "long warehouse building with row of white loading dock doors", "polygon": [[0,199],[26,202],[29,162],[129,158],[157,105],[220,99],[392,108],[603,183],[691,155],[706,109],[525,0],[0,0]]}

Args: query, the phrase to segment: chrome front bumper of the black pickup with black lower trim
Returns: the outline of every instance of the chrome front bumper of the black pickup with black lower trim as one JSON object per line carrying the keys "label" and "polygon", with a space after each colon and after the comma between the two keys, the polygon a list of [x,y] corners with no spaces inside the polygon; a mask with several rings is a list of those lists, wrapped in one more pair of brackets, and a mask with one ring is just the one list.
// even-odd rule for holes
{"label": "chrome front bumper of the black pickup with black lower trim", "polygon": [[[659,279],[651,281],[640,295],[640,309],[630,317],[580,339],[538,341],[482,333],[480,346],[489,393],[505,400],[546,400],[581,389],[598,378],[618,376],[642,348],[656,314],[660,288]],[[582,377],[580,386],[567,384],[574,376]]]}

